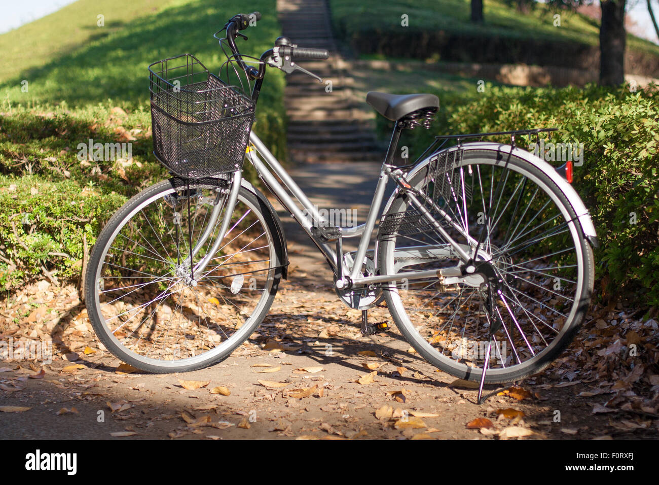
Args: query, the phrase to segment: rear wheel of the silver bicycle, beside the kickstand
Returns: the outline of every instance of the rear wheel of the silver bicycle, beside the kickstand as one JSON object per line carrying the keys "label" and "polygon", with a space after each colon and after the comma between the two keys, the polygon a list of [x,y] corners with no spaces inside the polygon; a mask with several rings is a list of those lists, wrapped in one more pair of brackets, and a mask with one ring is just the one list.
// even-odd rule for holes
{"label": "rear wheel of the silver bicycle, beside the kickstand", "polygon": [[[579,329],[594,279],[592,249],[565,194],[526,160],[476,148],[440,152],[411,185],[432,199],[428,210],[447,234],[476,254],[479,271],[450,284],[436,276],[387,284],[387,306],[404,337],[461,379],[479,381],[486,354],[488,383],[548,366]],[[459,266],[447,239],[420,214],[401,193],[384,215],[383,274]]]}

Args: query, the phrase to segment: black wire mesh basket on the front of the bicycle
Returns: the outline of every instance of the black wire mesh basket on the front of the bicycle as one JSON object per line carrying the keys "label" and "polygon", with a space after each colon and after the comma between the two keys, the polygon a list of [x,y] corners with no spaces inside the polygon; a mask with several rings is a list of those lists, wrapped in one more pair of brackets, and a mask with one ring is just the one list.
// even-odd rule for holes
{"label": "black wire mesh basket on the front of the bicycle", "polygon": [[158,160],[184,178],[241,168],[254,123],[252,99],[190,54],[153,63],[149,71]]}

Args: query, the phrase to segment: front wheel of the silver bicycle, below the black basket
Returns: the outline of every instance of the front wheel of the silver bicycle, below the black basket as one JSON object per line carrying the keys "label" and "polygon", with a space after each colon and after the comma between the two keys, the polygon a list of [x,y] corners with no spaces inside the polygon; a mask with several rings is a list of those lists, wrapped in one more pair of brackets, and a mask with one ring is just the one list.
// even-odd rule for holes
{"label": "front wheel of the silver bicycle, below the black basket", "polygon": [[281,243],[270,209],[245,187],[219,249],[194,273],[226,216],[212,220],[215,206],[224,210],[227,187],[204,180],[145,189],[112,216],[90,255],[92,326],[108,350],[140,370],[187,372],[221,360],[250,336],[277,292]]}

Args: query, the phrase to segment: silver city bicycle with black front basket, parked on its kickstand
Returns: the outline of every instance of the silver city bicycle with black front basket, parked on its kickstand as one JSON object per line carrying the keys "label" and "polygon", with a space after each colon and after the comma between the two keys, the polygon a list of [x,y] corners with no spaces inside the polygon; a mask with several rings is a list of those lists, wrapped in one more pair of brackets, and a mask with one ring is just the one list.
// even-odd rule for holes
{"label": "silver city bicycle with black front basket, parked on its kickstand", "polygon": [[[339,298],[362,311],[364,335],[382,330],[367,312],[386,302],[423,358],[480,381],[479,402],[484,383],[546,368],[583,321],[598,244],[571,162],[553,168],[516,145],[554,129],[436,137],[397,166],[402,131],[430,127],[439,100],[370,92],[366,102],[395,122],[372,205],[360,226],[329,226],[251,131],[266,67],[320,79],[295,61],[329,53],[280,37],[258,58],[241,54],[235,40],[259,19],[235,15],[215,32],[227,81],[189,54],[149,67],[154,154],[171,178],[121,207],[90,255],[86,305],[105,347],[140,370],[187,372],[225,358],[258,327],[288,256],[272,205],[241,176],[248,160],[324,255]],[[483,141],[494,135],[510,143]],[[345,238],[360,238],[357,251],[343,251]]]}

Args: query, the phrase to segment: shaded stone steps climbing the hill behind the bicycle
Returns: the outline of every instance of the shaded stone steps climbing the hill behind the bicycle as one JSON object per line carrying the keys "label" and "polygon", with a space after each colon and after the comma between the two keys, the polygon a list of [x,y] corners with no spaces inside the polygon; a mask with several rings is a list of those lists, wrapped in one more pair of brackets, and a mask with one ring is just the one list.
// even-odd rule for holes
{"label": "shaded stone steps climbing the hill behind the bicycle", "polygon": [[[353,94],[350,62],[334,40],[326,0],[277,0],[283,36],[306,48],[328,49],[327,61],[301,61],[303,73],[287,76],[287,143],[293,162],[382,161],[374,135],[374,111]],[[329,83],[328,83],[329,81]]]}

